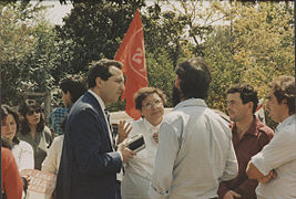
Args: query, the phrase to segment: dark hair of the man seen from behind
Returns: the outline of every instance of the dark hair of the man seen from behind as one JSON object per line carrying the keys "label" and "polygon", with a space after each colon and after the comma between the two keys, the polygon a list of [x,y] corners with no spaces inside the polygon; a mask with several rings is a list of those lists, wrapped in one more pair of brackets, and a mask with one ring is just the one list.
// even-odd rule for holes
{"label": "dark hair of the man seen from behind", "polygon": [[203,100],[207,97],[212,77],[204,59],[193,57],[186,60],[176,66],[175,73],[181,80],[182,97]]}

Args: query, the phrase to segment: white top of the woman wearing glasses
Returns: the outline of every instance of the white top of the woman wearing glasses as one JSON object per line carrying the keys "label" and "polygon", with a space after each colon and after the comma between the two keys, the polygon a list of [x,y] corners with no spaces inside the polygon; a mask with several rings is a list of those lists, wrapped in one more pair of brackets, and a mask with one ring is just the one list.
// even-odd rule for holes
{"label": "white top of the woman wearing glasses", "polygon": [[145,148],[130,159],[125,166],[125,176],[122,181],[123,199],[149,198],[147,190],[154,167],[157,144],[153,138],[154,133],[160,132],[160,125],[153,126],[145,118],[132,122],[132,130],[129,137],[142,134]]}

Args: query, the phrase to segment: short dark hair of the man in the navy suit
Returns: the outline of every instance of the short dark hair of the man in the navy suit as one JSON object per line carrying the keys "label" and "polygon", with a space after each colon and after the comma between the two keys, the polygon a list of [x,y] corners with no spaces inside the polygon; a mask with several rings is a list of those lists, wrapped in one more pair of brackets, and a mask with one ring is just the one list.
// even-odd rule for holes
{"label": "short dark hair of the man in the navy suit", "polygon": [[96,77],[101,77],[103,81],[106,81],[110,76],[112,76],[112,74],[110,73],[111,66],[121,69],[122,63],[108,59],[102,59],[98,62],[91,63],[91,70],[88,75],[89,87],[95,86]]}

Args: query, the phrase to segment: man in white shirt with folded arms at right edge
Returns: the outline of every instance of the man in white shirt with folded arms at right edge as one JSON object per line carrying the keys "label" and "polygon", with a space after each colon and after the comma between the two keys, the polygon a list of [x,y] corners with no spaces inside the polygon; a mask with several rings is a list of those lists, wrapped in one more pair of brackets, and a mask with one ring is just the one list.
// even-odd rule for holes
{"label": "man in white shirt with folded arms at right edge", "polygon": [[258,199],[296,198],[295,77],[279,76],[273,82],[267,109],[279,125],[271,143],[252,157],[247,175],[259,181]]}

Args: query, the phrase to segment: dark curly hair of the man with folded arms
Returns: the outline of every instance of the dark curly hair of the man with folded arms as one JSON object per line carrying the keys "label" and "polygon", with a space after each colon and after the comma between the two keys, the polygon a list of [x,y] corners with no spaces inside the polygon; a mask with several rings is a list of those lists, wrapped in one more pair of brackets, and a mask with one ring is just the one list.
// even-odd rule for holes
{"label": "dark curly hair of the man with folded arms", "polygon": [[286,98],[289,109],[288,114],[295,114],[295,77],[282,75],[273,81],[271,87],[277,103],[279,104]]}

